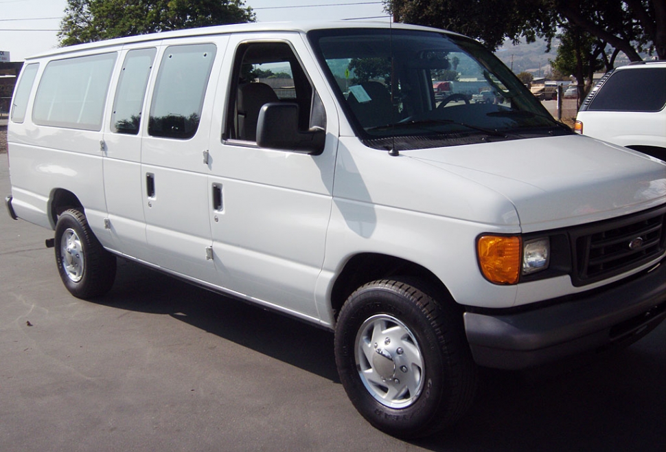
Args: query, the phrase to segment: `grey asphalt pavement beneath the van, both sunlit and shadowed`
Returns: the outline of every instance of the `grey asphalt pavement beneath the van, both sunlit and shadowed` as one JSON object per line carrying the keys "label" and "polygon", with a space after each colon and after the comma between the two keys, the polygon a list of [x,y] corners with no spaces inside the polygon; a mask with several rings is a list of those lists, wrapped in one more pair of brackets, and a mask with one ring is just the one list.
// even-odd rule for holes
{"label": "grey asphalt pavement beneath the van, both sunlit and shadowed", "polygon": [[78,300],[51,231],[4,210],[0,231],[3,452],[666,450],[666,324],[602,357],[483,372],[457,427],[404,442],[349,403],[330,332],[125,261]]}

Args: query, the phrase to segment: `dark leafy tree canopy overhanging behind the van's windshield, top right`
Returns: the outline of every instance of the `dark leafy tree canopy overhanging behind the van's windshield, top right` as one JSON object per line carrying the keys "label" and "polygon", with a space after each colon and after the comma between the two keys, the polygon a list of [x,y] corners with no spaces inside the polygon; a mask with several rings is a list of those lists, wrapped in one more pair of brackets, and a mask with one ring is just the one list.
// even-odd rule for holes
{"label": "dark leafy tree canopy overhanging behind the van's windshield, top right", "polygon": [[496,49],[505,38],[537,36],[549,42],[558,29],[577,27],[619,49],[632,61],[641,52],[666,59],[664,0],[384,0],[394,20],[447,28]]}

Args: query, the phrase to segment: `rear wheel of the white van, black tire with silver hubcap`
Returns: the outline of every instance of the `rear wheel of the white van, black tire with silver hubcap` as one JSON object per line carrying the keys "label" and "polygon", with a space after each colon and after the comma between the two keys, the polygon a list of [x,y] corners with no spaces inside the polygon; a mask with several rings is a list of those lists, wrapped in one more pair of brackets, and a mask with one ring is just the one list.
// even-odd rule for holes
{"label": "rear wheel of the white van, black tire with silver hubcap", "polygon": [[111,290],[115,256],[102,247],[82,212],[69,209],[60,214],[54,245],[58,273],[69,293],[87,300]]}

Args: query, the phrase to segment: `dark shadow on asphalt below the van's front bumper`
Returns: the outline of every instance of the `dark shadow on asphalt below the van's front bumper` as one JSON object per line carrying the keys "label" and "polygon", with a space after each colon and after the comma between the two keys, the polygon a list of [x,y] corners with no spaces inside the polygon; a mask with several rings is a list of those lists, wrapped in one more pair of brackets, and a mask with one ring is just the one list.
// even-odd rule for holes
{"label": "dark shadow on asphalt below the van's front bumper", "polygon": [[470,414],[440,438],[413,444],[433,451],[664,451],[665,330],[653,332],[661,335],[661,354],[636,344],[586,363],[485,370]]}

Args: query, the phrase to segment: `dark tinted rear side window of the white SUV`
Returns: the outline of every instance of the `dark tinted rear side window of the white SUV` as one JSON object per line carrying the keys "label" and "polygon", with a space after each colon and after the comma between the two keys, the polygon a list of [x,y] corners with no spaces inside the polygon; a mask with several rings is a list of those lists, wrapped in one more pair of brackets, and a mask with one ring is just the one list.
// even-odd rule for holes
{"label": "dark tinted rear side window of the white SUV", "polygon": [[666,105],[666,67],[615,71],[601,86],[588,111],[661,111]]}

